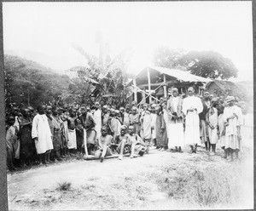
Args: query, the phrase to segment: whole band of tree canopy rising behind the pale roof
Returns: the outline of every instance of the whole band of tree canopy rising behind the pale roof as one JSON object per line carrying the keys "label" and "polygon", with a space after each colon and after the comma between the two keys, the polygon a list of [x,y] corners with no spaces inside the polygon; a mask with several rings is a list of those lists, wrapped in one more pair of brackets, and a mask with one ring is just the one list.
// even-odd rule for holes
{"label": "whole band of tree canopy rising behind the pale roof", "polygon": [[153,62],[155,66],[190,71],[200,77],[228,79],[237,77],[237,68],[229,58],[214,51],[190,51],[183,49],[156,48]]}

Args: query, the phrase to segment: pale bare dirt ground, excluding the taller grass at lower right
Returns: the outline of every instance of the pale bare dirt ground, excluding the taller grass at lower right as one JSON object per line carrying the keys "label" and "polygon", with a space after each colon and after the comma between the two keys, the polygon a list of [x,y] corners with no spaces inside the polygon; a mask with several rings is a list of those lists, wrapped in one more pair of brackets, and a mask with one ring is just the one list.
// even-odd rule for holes
{"label": "pale bare dirt ground, excluding the taller grass at lower right", "polygon": [[[125,157],[123,161],[116,158],[104,163],[73,161],[8,174],[9,209],[186,208],[175,198],[170,198],[170,194],[168,196],[156,182],[164,174],[163,169],[171,166],[174,173],[179,167],[203,169],[213,164],[220,168],[234,168],[240,165],[225,161],[220,157],[221,153],[218,151],[217,156],[211,157],[203,149],[197,154],[154,150],[144,157]],[[253,167],[252,160],[247,166]],[[244,177],[247,178],[243,180],[248,181],[244,182],[245,185],[253,180],[252,174],[244,174]],[[58,184],[64,182],[71,184],[70,189],[57,190]]]}

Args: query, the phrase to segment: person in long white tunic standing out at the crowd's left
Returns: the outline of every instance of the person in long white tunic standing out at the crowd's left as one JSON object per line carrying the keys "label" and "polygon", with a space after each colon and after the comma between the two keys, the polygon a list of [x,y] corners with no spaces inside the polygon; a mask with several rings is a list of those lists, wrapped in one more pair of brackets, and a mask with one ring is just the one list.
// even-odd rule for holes
{"label": "person in long white tunic standing out at the crowd's left", "polygon": [[32,139],[35,140],[39,165],[46,163],[46,154],[53,149],[51,136],[48,119],[45,115],[45,107],[38,106],[38,114],[32,121]]}

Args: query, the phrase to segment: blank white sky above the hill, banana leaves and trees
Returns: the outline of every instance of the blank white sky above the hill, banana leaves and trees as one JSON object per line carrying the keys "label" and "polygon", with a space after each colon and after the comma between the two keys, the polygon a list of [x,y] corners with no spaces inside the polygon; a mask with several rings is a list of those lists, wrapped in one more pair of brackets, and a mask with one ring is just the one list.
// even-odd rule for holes
{"label": "blank white sky above the hill, banana leaves and trees", "polygon": [[135,50],[130,65],[133,72],[150,65],[152,50],[166,45],[188,51],[217,51],[233,60],[239,80],[253,79],[249,1],[3,3],[4,50],[69,58],[68,65],[58,60],[59,69],[84,65],[72,43],[98,56],[96,31],[102,31],[108,41],[111,57],[125,48]]}

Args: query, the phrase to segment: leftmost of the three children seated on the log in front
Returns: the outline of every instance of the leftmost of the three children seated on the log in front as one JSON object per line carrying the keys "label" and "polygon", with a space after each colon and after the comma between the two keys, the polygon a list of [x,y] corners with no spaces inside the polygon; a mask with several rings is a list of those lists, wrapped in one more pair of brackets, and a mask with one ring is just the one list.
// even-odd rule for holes
{"label": "leftmost of the three children seated on the log in front", "polygon": [[99,140],[97,140],[97,148],[98,150],[95,153],[96,158],[101,157],[101,163],[104,160],[105,156],[111,156],[111,145],[113,143],[112,135],[108,134],[108,128],[106,126],[102,126],[102,135]]}

